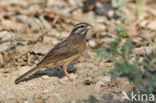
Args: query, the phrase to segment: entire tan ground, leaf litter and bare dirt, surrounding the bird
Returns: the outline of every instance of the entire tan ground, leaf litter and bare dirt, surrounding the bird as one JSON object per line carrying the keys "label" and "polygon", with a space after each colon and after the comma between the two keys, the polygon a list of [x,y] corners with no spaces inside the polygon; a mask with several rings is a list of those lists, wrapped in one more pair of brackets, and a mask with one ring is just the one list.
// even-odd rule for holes
{"label": "entire tan ground, leaf litter and bare dirt, surrounding the bird", "polygon": [[[127,27],[136,48],[149,45],[149,39],[156,42],[154,4],[154,0],[147,2],[144,19],[138,21],[135,0],[125,3],[126,20],[115,14],[110,0],[1,0],[0,103],[123,103],[122,92],[133,85],[125,78],[112,79],[108,71],[113,64],[93,49],[108,47],[117,37],[116,25]],[[73,81],[58,66],[14,83],[84,21],[94,29],[87,35],[83,56],[68,66]]]}

